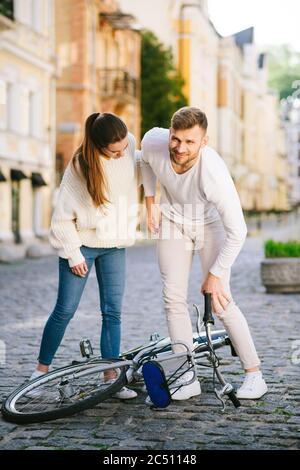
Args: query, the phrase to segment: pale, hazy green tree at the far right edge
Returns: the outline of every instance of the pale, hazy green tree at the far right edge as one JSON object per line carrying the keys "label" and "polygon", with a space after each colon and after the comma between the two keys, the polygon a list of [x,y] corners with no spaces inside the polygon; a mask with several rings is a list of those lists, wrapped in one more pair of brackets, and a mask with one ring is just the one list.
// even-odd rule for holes
{"label": "pale, hazy green tree at the far right edge", "polygon": [[269,86],[279,92],[280,99],[293,93],[299,97],[299,84],[295,82],[300,80],[300,52],[289,45],[276,46],[268,51],[268,58]]}

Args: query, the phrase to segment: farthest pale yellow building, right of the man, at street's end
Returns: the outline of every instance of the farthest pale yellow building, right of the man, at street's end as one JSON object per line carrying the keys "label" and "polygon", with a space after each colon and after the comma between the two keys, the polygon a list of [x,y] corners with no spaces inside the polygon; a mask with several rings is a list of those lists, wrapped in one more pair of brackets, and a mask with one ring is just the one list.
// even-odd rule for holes
{"label": "farthest pale yellow building, right of the man, at street's end", "polygon": [[288,210],[288,162],[279,99],[267,86],[267,56],[252,42],[244,45],[243,163],[237,181],[243,206],[250,210]]}

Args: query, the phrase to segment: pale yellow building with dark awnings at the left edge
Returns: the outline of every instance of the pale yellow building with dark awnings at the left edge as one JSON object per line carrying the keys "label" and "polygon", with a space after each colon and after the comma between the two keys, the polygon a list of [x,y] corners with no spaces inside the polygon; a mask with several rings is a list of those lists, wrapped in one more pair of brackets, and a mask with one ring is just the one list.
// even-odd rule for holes
{"label": "pale yellow building with dark awnings at the left edge", "polygon": [[0,242],[47,235],[55,147],[53,2],[0,5]]}

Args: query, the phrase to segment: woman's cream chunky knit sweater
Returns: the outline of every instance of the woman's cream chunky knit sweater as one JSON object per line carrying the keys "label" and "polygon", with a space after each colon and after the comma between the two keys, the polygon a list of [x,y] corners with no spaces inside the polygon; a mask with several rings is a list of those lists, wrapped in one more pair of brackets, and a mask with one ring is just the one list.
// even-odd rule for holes
{"label": "woman's cream chunky knit sweater", "polygon": [[[109,203],[96,208],[84,178],[70,162],[64,173],[51,220],[50,243],[70,267],[84,261],[82,245],[121,248],[133,245],[137,224],[137,166],[135,138],[128,134],[125,155],[102,158]],[[77,165],[78,167],[78,165]]]}

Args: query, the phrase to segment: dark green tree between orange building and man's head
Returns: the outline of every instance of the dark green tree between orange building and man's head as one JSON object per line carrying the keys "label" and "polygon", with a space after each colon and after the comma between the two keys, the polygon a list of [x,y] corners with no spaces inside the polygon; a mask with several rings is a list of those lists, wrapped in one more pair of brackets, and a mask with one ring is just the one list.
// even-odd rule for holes
{"label": "dark green tree between orange building and man's head", "polygon": [[172,114],[187,100],[183,80],[173,63],[170,49],[151,31],[142,34],[142,134],[155,126],[169,127]]}

